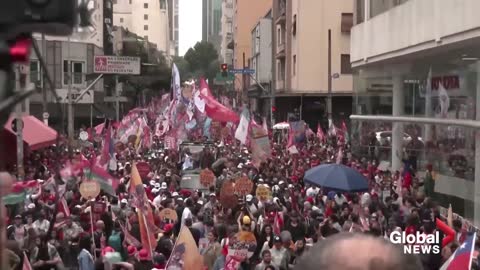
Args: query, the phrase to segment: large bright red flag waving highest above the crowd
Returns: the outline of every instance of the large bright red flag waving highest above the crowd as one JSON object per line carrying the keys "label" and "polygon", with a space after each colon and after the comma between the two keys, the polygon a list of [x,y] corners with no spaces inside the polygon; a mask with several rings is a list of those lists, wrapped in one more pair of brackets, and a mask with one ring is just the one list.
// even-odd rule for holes
{"label": "large bright red flag waving highest above the crowd", "polygon": [[204,79],[200,80],[200,96],[205,101],[205,113],[213,121],[238,123],[240,117],[229,108],[218,102],[211,94]]}

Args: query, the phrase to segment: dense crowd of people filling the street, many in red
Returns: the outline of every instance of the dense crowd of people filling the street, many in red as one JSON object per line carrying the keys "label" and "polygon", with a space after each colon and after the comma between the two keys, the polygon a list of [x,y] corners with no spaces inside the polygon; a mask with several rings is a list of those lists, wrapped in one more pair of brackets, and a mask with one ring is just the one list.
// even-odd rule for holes
{"label": "dense crowd of people filling the street, many in red", "polygon": [[[193,166],[215,173],[215,185],[209,190],[182,189],[182,167],[188,151],[165,149],[154,138],[150,148],[135,149],[130,143],[117,149],[117,164],[109,171],[120,180],[116,196],[102,192],[95,202],[81,197],[78,181],[68,181],[62,203],[58,179],[53,184],[50,179],[58,173],[57,163],[99,156],[100,147],[70,153],[62,148],[59,154],[60,146],[53,146],[32,153],[25,164],[26,179],[38,179],[40,184],[29,190],[23,203],[8,206],[9,258],[16,267],[12,269],[21,269],[26,258],[33,269],[165,269],[175,256],[172,252],[182,226],[189,228],[201,250],[204,269],[232,269],[226,267],[229,241],[240,231],[253,233],[257,244],[250,257],[240,258],[238,269],[286,270],[298,264],[310,269],[306,261],[317,255],[305,254],[315,252],[317,243],[329,243],[327,240],[334,235],[349,232],[381,239],[393,231],[431,234],[436,230],[435,218],[444,219],[439,205],[431,199],[432,166],[417,168],[426,171],[422,178],[416,177],[416,166],[408,160],[400,171],[381,171],[375,161],[352,155],[344,139],[331,136],[324,141],[314,134],[298,147],[298,154],[289,153],[286,141],[272,143],[272,157],[258,168],[252,164],[247,148],[236,142],[205,145],[199,155],[189,157]],[[303,182],[310,168],[335,161],[361,172],[369,181],[370,191],[343,193]],[[157,240],[152,244],[152,257],[139,241],[138,210],[129,194],[136,162],[147,162],[151,167],[142,181],[155,225],[160,228],[158,234],[150,232]],[[226,207],[219,199],[223,183],[240,176],[251,179],[254,188],[235,206]],[[271,191],[267,200],[256,196],[255,190],[261,185]],[[168,208],[175,211],[176,222],[160,218],[161,210]],[[460,220],[453,221],[456,239],[441,254],[421,256],[418,264],[412,259],[411,268],[390,269],[439,269],[464,241],[467,232],[462,225]],[[351,247],[350,252],[370,251]],[[476,260],[474,264],[476,267]],[[167,269],[183,268],[172,265]]]}

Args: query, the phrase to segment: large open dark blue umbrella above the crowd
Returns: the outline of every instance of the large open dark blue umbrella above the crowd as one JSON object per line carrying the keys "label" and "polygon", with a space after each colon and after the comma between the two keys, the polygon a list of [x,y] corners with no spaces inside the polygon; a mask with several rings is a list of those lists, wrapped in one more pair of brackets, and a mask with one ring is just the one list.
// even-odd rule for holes
{"label": "large open dark blue umbrella above the crowd", "polygon": [[344,192],[368,191],[368,181],[358,171],[341,164],[322,164],[305,172],[306,183]]}

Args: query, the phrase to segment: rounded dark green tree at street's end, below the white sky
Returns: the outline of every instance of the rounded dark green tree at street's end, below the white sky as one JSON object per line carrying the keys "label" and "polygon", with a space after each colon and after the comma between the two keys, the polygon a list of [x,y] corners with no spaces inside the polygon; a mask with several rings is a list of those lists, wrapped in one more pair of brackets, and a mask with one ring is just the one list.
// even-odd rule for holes
{"label": "rounded dark green tree at street's end, below the white sky", "polygon": [[188,62],[193,76],[205,77],[209,80],[215,78],[220,64],[217,50],[212,43],[197,42],[193,48],[188,49],[183,58]]}

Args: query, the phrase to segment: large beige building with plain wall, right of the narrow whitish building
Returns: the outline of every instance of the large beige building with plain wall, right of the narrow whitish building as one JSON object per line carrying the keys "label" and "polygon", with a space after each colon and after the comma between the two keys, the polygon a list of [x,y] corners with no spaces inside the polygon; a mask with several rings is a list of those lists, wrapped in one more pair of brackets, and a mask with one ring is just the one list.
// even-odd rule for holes
{"label": "large beige building with plain wall, right of the narrow whitish building", "polygon": [[[300,117],[311,128],[328,126],[328,32],[334,121],[351,113],[350,28],[353,0],[274,0],[273,84],[276,121]],[[323,121],[325,120],[325,121]]]}

